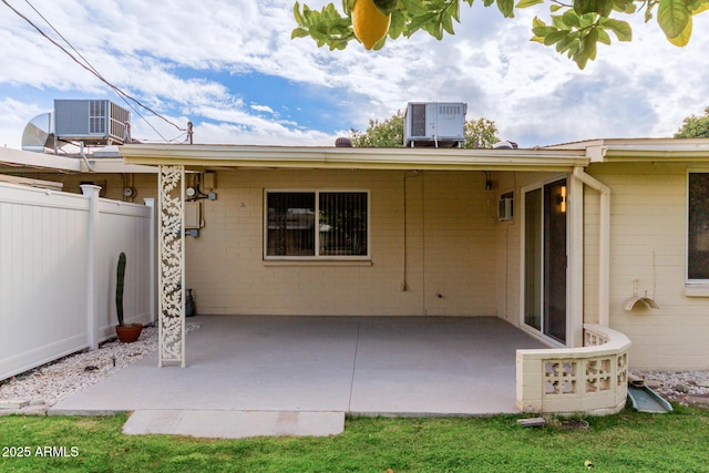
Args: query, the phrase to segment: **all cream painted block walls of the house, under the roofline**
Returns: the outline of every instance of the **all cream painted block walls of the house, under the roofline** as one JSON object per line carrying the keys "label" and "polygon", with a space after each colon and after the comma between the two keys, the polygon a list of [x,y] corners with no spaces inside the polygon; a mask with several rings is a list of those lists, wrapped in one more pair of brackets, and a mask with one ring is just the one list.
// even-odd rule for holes
{"label": "all cream painted block walls of the house, under the roofline", "polygon": [[[612,189],[610,326],[633,341],[633,368],[709,369],[709,298],[685,295],[687,169],[677,164],[592,164],[587,169]],[[121,197],[121,176],[92,177],[106,179],[109,197]],[[485,191],[485,177],[492,191]],[[497,316],[518,326],[521,188],[552,177],[218,171],[218,199],[202,202],[205,227],[198,238],[186,240],[187,285],[199,313]],[[85,176],[59,179],[65,191],[78,192]],[[133,179],[137,203],[156,196],[155,175]],[[370,191],[371,261],[264,261],[265,188]],[[514,192],[515,217],[500,223],[496,202],[505,192]],[[583,317],[596,323],[598,195],[586,187],[584,200]],[[647,291],[659,309],[623,309],[636,279],[639,292]]]}

